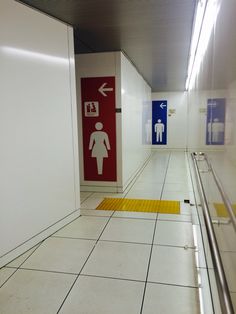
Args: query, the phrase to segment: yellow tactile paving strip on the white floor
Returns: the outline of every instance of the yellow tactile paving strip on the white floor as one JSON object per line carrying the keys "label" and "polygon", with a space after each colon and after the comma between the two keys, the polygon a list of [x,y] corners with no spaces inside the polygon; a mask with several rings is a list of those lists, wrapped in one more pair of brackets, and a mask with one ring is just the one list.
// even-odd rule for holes
{"label": "yellow tactile paving strip on the white floor", "polygon": [[180,214],[180,202],[143,199],[105,198],[96,209],[162,214]]}

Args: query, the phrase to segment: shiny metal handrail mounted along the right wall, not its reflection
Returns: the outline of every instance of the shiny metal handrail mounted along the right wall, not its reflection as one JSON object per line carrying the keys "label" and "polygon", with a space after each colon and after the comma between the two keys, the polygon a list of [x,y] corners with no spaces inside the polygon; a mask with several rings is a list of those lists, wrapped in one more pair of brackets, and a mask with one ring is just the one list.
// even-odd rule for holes
{"label": "shiny metal handrail mounted along the right wall, not its reflection", "polygon": [[228,284],[226,281],[224,268],[223,268],[222,260],[220,257],[220,252],[219,252],[219,248],[217,245],[217,240],[216,240],[216,236],[214,233],[213,224],[211,221],[210,210],[209,210],[209,207],[207,204],[206,194],[205,194],[204,189],[203,189],[203,183],[202,183],[199,168],[197,165],[196,157],[198,156],[198,154],[192,153],[191,156],[193,159],[194,170],[195,170],[195,174],[197,177],[197,185],[198,185],[198,189],[200,192],[200,199],[201,199],[203,214],[204,214],[204,218],[205,218],[205,222],[206,222],[206,230],[207,230],[208,238],[210,240],[209,246],[210,246],[210,249],[212,252],[213,263],[215,264],[215,268],[216,268],[218,292],[220,295],[220,304],[222,307],[222,312],[225,314],[234,314],[234,309],[233,309],[233,304],[232,304],[232,300],[230,297],[229,287],[228,287]]}

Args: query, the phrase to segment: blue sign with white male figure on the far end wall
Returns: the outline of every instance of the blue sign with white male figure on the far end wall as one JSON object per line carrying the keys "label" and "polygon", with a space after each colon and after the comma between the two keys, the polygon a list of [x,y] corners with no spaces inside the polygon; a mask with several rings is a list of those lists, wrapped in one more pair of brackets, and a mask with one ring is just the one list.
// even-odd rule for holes
{"label": "blue sign with white male figure on the far end wall", "polygon": [[167,100],[152,102],[152,144],[167,144]]}

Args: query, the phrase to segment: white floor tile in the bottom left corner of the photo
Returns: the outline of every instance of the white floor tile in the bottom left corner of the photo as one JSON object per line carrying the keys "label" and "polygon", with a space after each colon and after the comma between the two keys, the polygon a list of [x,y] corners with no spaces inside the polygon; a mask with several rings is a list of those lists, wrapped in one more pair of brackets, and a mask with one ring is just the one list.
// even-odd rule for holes
{"label": "white floor tile in the bottom left corner of the photo", "polygon": [[1,288],[1,314],[57,313],[75,279],[75,275],[19,269]]}

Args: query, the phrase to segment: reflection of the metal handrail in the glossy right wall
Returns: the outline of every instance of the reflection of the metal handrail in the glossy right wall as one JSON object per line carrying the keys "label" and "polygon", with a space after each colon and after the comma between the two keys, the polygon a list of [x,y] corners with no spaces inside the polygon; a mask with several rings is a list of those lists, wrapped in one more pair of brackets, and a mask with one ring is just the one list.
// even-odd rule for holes
{"label": "reflection of the metal handrail in the glossy right wall", "polygon": [[215,180],[215,183],[216,183],[216,185],[217,185],[217,187],[218,187],[218,189],[219,189],[219,192],[220,192],[220,195],[221,195],[222,200],[223,200],[223,202],[224,202],[225,208],[226,208],[227,211],[228,211],[230,220],[231,220],[231,222],[232,222],[232,224],[233,224],[233,227],[234,227],[234,230],[235,230],[235,232],[236,232],[236,217],[235,217],[235,215],[234,215],[234,211],[233,211],[233,207],[232,207],[232,205],[231,205],[231,202],[230,202],[228,196],[226,195],[226,193],[225,193],[225,191],[224,191],[224,189],[223,189],[223,186],[222,186],[222,184],[221,184],[221,182],[220,182],[220,179],[218,178],[218,176],[217,176],[217,174],[216,174],[216,172],[215,172],[215,170],[214,170],[212,164],[210,163],[209,159],[207,158],[207,156],[206,156],[205,154],[204,154],[204,157],[205,157],[205,160],[206,160],[206,162],[207,162],[208,168],[209,168],[209,170],[211,171],[211,173],[212,173],[212,175],[213,175],[213,178],[214,178],[214,180]]}

